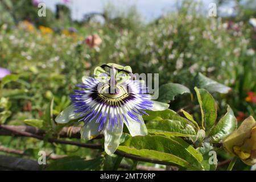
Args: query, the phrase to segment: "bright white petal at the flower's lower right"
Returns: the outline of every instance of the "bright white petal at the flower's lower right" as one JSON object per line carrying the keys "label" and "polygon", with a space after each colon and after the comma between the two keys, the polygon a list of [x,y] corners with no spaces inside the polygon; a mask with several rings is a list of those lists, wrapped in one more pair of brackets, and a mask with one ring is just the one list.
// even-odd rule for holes
{"label": "bright white petal at the flower's lower right", "polygon": [[141,120],[142,122],[138,122],[138,121],[134,121],[134,119],[130,118],[129,116],[126,117],[129,125],[127,125],[127,123],[125,122],[125,125],[127,126],[130,134],[131,134],[131,137],[134,137],[134,136],[138,136],[138,135],[141,135],[141,136],[144,136],[144,135],[147,135],[147,127],[141,117],[141,115],[137,115],[139,120]]}

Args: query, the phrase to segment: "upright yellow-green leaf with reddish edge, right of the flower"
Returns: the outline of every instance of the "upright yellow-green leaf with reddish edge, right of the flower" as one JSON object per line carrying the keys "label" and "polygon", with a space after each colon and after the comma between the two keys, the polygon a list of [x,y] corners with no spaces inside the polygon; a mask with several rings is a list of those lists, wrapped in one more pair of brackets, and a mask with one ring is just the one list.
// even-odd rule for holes
{"label": "upright yellow-green leaf with reddish edge, right of the flower", "polygon": [[196,95],[201,108],[202,127],[209,131],[217,118],[217,105],[212,95],[205,89],[197,89]]}

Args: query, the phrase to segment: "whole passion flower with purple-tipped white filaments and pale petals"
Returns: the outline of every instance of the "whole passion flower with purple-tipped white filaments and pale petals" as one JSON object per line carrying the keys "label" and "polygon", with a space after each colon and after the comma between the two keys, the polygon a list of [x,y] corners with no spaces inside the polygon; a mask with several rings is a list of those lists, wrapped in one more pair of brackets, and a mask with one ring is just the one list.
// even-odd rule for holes
{"label": "whole passion flower with purple-tipped white filaments and pale petals", "polygon": [[73,104],[55,119],[67,123],[72,119],[84,122],[81,138],[90,140],[100,133],[105,137],[105,151],[111,155],[117,150],[123,123],[132,137],[147,135],[142,115],[145,110],[164,110],[168,104],[150,100],[143,82],[134,80],[131,68],[105,64],[94,69],[94,77],[82,79],[79,90],[71,95]]}

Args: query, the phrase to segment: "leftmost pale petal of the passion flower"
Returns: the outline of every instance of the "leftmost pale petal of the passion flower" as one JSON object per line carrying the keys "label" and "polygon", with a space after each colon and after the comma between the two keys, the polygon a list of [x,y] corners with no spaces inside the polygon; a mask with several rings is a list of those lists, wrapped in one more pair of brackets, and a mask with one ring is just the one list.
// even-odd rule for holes
{"label": "leftmost pale petal of the passion flower", "polygon": [[56,117],[55,121],[57,123],[67,123],[73,119],[81,118],[81,113],[75,113],[73,105],[68,106],[66,109],[61,111],[61,113]]}

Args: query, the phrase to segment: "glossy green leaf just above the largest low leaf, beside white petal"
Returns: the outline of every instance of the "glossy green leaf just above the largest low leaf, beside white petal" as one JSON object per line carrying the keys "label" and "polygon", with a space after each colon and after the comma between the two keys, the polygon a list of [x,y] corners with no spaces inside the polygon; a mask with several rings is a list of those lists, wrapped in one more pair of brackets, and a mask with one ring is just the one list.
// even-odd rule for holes
{"label": "glossy green leaf just above the largest low leaf, beside white petal", "polygon": [[187,122],[164,119],[162,121],[150,121],[146,123],[147,131],[150,134],[164,135],[166,137],[191,137],[196,135],[193,126]]}

